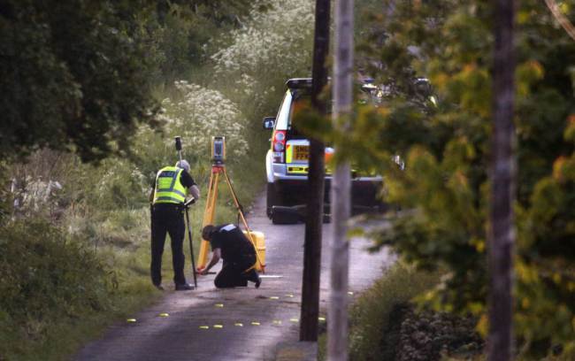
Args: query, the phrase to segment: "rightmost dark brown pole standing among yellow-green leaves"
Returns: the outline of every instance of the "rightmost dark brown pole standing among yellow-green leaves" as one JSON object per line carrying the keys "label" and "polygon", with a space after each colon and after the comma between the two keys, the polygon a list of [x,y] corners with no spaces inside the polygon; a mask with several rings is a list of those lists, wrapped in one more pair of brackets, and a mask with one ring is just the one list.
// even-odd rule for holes
{"label": "rightmost dark brown pole standing among yellow-green leaves", "polygon": [[515,156],[513,95],[515,51],[514,2],[494,0],[495,53],[493,72],[493,133],[491,138],[491,195],[489,207],[489,296],[487,360],[512,358],[513,199]]}

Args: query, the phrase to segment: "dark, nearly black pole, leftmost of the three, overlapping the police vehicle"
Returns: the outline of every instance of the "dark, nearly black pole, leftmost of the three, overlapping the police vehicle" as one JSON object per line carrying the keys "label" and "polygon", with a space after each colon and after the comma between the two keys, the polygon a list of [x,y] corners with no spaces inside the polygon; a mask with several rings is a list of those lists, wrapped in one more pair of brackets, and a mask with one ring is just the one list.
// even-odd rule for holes
{"label": "dark, nearly black pole, leftmost of the three, overlapping the police vehicle", "polygon": [[[329,50],[330,0],[316,0],[316,27],[311,68],[311,104],[326,114],[319,94],[326,87],[326,58]],[[300,341],[318,341],[319,273],[321,271],[321,227],[324,218],[324,177],[326,147],[310,139],[309,197],[303,250],[302,322]]]}

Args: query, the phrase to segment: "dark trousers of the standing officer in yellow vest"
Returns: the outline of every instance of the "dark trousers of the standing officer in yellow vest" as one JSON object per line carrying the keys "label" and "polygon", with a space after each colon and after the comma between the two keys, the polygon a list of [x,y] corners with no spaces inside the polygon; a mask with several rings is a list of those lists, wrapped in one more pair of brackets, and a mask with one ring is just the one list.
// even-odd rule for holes
{"label": "dark trousers of the standing officer in yellow vest", "polygon": [[149,271],[152,282],[159,285],[162,282],[162,254],[164,253],[165,234],[170,234],[172,241],[173,282],[186,283],[184,276],[184,214],[178,204],[155,204],[152,207],[152,242],[151,265]]}

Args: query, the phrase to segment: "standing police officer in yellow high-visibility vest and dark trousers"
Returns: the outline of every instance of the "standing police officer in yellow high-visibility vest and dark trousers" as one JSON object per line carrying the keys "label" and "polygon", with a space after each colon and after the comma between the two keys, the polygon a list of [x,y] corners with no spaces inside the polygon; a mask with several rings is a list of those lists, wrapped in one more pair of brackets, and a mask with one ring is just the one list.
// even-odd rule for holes
{"label": "standing police officer in yellow high-visibility vest and dark trousers", "polygon": [[189,174],[188,161],[182,159],[175,166],[165,166],[156,175],[156,182],[149,194],[151,207],[151,264],[149,266],[152,283],[162,287],[162,254],[164,253],[165,234],[172,241],[173,283],[176,291],[194,289],[184,276],[184,203],[191,194],[200,197],[200,189]]}

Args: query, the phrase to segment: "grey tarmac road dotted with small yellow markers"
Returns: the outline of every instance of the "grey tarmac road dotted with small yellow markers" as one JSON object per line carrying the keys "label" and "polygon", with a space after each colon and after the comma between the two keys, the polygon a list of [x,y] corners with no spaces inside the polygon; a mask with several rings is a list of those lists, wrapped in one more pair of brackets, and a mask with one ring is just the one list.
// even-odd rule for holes
{"label": "grey tarmac road dotted with small yellow markers", "polygon": [[[253,283],[249,288],[217,289],[213,286],[215,275],[199,276],[196,290],[166,291],[160,303],[134,315],[135,323],[112,326],[102,339],[88,343],[73,359],[271,360],[280,343],[296,342],[304,226],[272,225],[265,216],[265,196],[249,212],[248,221],[252,230],[265,233],[266,274],[279,278],[264,279],[258,289]],[[320,296],[324,317],[331,235],[331,225],[325,224]],[[364,249],[368,244],[364,239],[351,241],[349,288],[354,295],[350,297],[368,288],[394,262],[387,250],[367,253]],[[165,275],[165,279],[171,279],[171,275]],[[164,312],[169,316],[160,317]]]}

